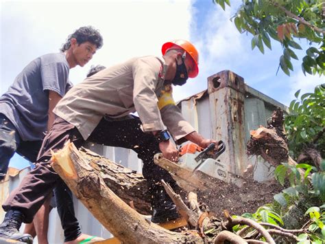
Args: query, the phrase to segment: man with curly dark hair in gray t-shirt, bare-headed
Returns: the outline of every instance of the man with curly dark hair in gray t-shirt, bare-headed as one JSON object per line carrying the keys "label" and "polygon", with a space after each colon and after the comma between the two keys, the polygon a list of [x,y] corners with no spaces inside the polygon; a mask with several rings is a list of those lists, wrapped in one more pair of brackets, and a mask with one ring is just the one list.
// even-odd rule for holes
{"label": "man with curly dark hair in gray t-shirt, bare-headed", "polygon": [[[5,177],[14,153],[19,153],[30,162],[36,162],[43,137],[55,119],[52,110],[72,87],[69,70],[77,65],[86,65],[102,45],[103,38],[97,30],[91,26],[80,27],[68,36],[60,53],[45,54],[32,60],[0,97],[0,179]],[[56,198],[64,201],[67,191],[59,192],[62,196],[56,195]],[[59,211],[61,219],[73,211],[73,206],[66,206],[62,212]],[[42,214],[44,212],[40,216]],[[72,215],[74,216],[74,212]],[[14,212],[12,216],[21,218]],[[48,219],[45,222],[36,225],[40,243],[47,243]],[[63,223],[64,236],[68,241],[81,235],[76,219],[62,221]],[[77,226],[79,232],[68,233],[72,225],[72,229],[75,230]],[[11,227],[8,236],[12,236],[12,231],[16,230],[16,221],[8,223],[8,227]],[[30,237],[28,234],[19,234],[17,240],[25,241]]]}

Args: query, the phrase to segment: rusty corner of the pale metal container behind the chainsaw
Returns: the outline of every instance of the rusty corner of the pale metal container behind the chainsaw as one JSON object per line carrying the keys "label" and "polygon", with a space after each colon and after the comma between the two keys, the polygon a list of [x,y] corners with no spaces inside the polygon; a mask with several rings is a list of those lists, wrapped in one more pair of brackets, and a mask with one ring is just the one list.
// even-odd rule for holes
{"label": "rusty corner of the pale metal container behind the chainsaw", "polygon": [[[263,159],[249,158],[246,154],[246,144],[250,139],[250,130],[260,125],[266,126],[267,118],[276,107],[285,111],[287,108],[249,87],[241,76],[228,70],[208,77],[206,91],[208,96],[197,98],[198,94],[205,92],[202,91],[182,100],[179,106],[185,118],[204,137],[223,140],[226,143],[226,151],[219,157],[228,165],[225,181],[236,183],[236,176],[242,176],[248,164],[254,166],[254,179],[263,181],[272,177],[274,168],[263,162]],[[212,165],[203,166],[202,171],[209,172],[209,175],[215,173]]]}

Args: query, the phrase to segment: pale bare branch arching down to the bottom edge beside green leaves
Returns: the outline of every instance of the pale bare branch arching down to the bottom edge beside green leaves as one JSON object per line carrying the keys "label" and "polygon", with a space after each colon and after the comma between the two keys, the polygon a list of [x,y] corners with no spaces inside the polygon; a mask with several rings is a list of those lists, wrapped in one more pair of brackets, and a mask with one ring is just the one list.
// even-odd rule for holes
{"label": "pale bare branch arching down to the bottom edge beside green leaves", "polygon": [[226,224],[228,230],[231,230],[234,225],[249,225],[250,227],[257,230],[259,233],[261,233],[261,235],[265,238],[268,243],[276,244],[269,232],[267,232],[267,230],[265,230],[262,225],[256,223],[256,221],[243,217],[237,217],[236,219],[232,219],[232,217],[227,211],[224,211],[224,215],[228,219],[228,223]]}

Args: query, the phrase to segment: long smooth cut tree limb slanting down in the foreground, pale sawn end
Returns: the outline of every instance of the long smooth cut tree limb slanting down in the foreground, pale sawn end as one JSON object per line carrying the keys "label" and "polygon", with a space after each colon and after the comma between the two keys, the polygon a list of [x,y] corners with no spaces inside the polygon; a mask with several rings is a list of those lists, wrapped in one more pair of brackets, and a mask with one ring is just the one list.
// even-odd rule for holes
{"label": "long smooth cut tree limb slanting down in the foreground, pale sawn end", "polygon": [[51,160],[76,197],[122,243],[202,243],[200,236],[170,232],[144,219],[108,188],[73,144],[53,153]]}

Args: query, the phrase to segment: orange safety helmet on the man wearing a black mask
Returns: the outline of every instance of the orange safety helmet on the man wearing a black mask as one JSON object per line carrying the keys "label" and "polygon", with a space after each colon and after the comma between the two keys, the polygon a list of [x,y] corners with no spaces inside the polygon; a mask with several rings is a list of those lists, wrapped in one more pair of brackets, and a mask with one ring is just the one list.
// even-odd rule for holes
{"label": "orange safety helmet on the man wearing a black mask", "polygon": [[180,47],[181,49],[183,49],[186,53],[188,53],[191,56],[191,58],[194,62],[194,67],[191,70],[191,72],[189,72],[189,77],[195,78],[197,76],[197,74],[199,74],[199,66],[198,66],[199,53],[197,52],[197,49],[189,41],[178,39],[178,40],[174,40],[174,41],[165,43],[163,45],[163,47],[161,47],[161,52],[163,53],[163,55],[165,55],[167,49],[171,48],[173,45]]}

